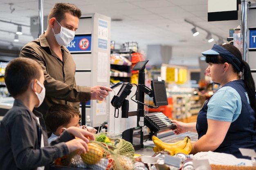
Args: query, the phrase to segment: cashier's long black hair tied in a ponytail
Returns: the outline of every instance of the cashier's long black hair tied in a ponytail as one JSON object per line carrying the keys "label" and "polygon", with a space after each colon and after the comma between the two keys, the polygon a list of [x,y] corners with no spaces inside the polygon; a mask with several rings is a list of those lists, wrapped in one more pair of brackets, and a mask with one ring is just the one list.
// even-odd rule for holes
{"label": "cashier's long black hair tied in a ponytail", "polygon": [[233,67],[234,72],[236,72],[238,74],[241,73],[241,78],[245,82],[245,89],[247,91],[250,104],[254,110],[254,115],[256,117],[255,83],[254,83],[254,79],[252,77],[250,66],[247,62],[242,60],[241,52],[234,45],[225,44],[225,45],[221,45],[221,46],[224,49],[226,49],[227,51],[229,51],[230,53],[234,54],[239,59],[239,61],[241,63],[240,70],[237,70],[235,67]]}

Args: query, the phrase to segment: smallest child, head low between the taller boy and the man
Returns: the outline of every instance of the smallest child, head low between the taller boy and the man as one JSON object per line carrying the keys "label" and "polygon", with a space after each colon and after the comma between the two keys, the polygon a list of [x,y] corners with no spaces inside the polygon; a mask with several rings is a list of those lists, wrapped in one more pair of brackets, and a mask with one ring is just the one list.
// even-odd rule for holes
{"label": "smallest child, head low between the taller boy and the man", "polygon": [[75,108],[66,104],[54,104],[49,107],[45,116],[45,124],[52,130],[52,135],[48,138],[49,144],[71,126],[84,128],[92,133],[97,132],[92,127],[79,126],[79,113]]}

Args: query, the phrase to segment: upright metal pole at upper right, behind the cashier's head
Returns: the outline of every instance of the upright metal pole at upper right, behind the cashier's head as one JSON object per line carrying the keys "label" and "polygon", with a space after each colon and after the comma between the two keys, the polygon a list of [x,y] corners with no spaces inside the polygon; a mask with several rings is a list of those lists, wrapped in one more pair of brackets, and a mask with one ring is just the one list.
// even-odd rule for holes
{"label": "upright metal pole at upper right, behind the cashier's head", "polygon": [[247,0],[242,0],[241,7],[241,33],[243,36],[243,60],[246,61],[246,44],[247,44]]}

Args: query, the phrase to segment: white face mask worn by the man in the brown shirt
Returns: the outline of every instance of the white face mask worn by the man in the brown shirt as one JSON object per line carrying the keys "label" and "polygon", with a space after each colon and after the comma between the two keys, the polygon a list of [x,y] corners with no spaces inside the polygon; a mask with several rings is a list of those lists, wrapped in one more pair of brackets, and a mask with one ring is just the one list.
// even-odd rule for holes
{"label": "white face mask worn by the man in the brown shirt", "polygon": [[[57,21],[57,20],[56,20]],[[61,26],[61,24],[57,21],[57,23]],[[69,44],[72,40],[74,40],[75,31],[72,31],[70,29],[67,29],[63,26],[61,26],[61,32],[58,34],[55,34],[54,29],[52,29],[54,36],[56,38],[56,41],[60,46],[65,46]]]}

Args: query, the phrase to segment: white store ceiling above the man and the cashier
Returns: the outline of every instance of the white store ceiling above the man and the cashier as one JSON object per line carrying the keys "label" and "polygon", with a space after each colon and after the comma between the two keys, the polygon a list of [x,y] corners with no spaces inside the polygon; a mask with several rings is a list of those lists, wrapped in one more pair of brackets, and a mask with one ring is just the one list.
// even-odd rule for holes
{"label": "white store ceiling above the man and the cashier", "polygon": [[[76,4],[86,13],[101,13],[112,19],[111,40],[121,46],[126,41],[137,41],[139,50],[147,51],[147,45],[162,44],[173,46],[171,64],[198,66],[198,56],[210,49],[215,42],[205,39],[209,30],[223,39],[229,36],[229,29],[240,24],[240,11],[236,21],[207,22],[207,0],[61,0]],[[44,0],[43,11],[47,15],[59,0]],[[256,2],[252,0],[251,2]],[[10,3],[13,3],[10,6]],[[38,16],[38,0],[0,0],[0,20],[30,25],[30,17]],[[15,10],[11,13],[11,9]],[[240,10],[240,5],[239,5]],[[197,37],[192,36],[192,24],[202,27]],[[22,48],[33,40],[29,27],[22,27],[24,35],[20,42],[13,42],[17,25],[0,21],[0,47]],[[9,33],[9,32],[13,33]],[[213,35],[218,41],[218,36]],[[181,62],[181,59],[183,62]],[[192,62],[193,61],[193,62]]]}

